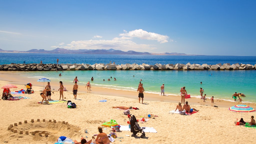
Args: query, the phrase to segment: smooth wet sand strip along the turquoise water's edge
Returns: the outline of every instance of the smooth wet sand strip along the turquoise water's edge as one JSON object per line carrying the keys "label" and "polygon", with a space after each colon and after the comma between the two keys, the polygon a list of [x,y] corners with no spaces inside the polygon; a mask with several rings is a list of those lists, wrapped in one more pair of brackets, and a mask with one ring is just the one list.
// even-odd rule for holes
{"label": "smooth wet sand strip along the turquoise water's edge", "polygon": [[[11,72],[12,74],[10,75],[10,72],[0,72],[0,80],[6,83],[12,83],[12,84],[18,84],[18,85],[25,85],[27,83],[32,83],[33,86],[37,87],[42,87],[43,84],[42,82],[37,82],[35,78],[31,79],[28,81],[28,79],[25,76],[16,74],[15,72]],[[16,77],[19,77],[19,81],[17,81]],[[5,77],[9,77],[8,80],[5,79]],[[47,82],[45,82],[44,86],[47,85]],[[50,82],[52,91],[58,92],[59,88],[59,81],[53,80]],[[73,88],[73,83],[63,84],[64,87],[68,91],[72,92]],[[123,98],[132,98],[138,100],[138,92],[136,90],[124,90],[124,89],[116,89],[116,88],[106,88],[106,87],[97,87],[92,85],[91,91],[87,90],[85,88],[85,83],[84,84],[79,84],[78,83],[78,98],[79,98],[79,93],[88,93],[88,94],[98,94],[98,95],[107,95],[107,96],[118,96],[118,97],[123,97]],[[24,86],[25,88],[25,86]],[[33,88],[33,87],[32,87]],[[58,92],[59,94],[59,92]],[[64,97],[65,97],[65,92],[64,92]],[[237,104],[244,104],[244,105],[250,105],[250,106],[256,106],[256,103],[254,102],[240,102],[240,101],[230,101],[226,99],[214,99],[215,103],[212,104],[209,98],[205,100],[206,102],[203,102],[200,98],[196,98],[196,96],[191,96],[189,99],[185,99],[185,101],[189,101],[190,105],[201,105],[201,106],[218,106],[218,107],[225,107],[229,108],[231,106],[237,105]],[[171,95],[168,94],[168,96],[160,96],[159,94],[151,93],[151,92],[144,92],[144,101],[160,101],[160,102],[172,102],[172,103],[178,103],[181,102],[181,97],[178,95]]]}

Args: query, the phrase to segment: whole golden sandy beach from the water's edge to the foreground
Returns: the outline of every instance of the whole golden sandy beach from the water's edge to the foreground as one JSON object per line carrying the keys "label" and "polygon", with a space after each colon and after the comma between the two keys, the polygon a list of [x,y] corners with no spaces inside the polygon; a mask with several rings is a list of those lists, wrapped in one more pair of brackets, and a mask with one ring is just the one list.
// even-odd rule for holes
{"label": "whole golden sandy beach from the water's edge to the foreground", "polygon": [[[139,110],[131,110],[131,114],[137,119],[147,118],[148,114],[152,118],[147,122],[139,122],[141,127],[153,127],[157,133],[146,132],[144,138],[131,137],[130,131],[117,132],[116,138],[112,143],[253,143],[251,136],[256,134],[254,128],[244,126],[236,126],[237,119],[240,120],[241,113],[232,112],[228,107],[240,104],[240,102],[215,101],[215,104],[202,102],[200,99],[186,99],[192,108],[200,111],[190,115],[183,116],[179,114],[169,113],[175,110],[177,103],[180,101],[178,96],[158,96],[155,94],[145,94],[144,103],[138,103],[137,92],[127,90],[115,90],[109,88],[94,87],[92,91],[87,91],[83,85],[79,85],[77,100],[73,99],[72,83],[64,84],[70,90],[64,92],[64,100],[71,100],[77,105],[76,109],[69,109],[65,103],[57,104],[38,104],[41,101],[40,92],[43,84],[35,82],[35,79],[29,81],[18,73],[1,72],[0,87],[6,84],[14,84],[18,88],[11,91],[25,89],[24,84],[32,83],[34,94],[23,94],[21,96],[30,97],[31,99],[21,99],[16,101],[0,100],[2,111],[2,122],[0,124],[0,143],[8,141],[8,143],[54,143],[60,136],[70,137],[72,140],[79,140],[81,136],[91,136],[98,134],[98,126],[111,119],[116,120],[119,125],[127,125],[129,120],[123,115],[123,110],[113,109],[112,106],[137,107]],[[45,83],[46,85],[46,83]],[[59,99],[59,84],[57,81],[51,81],[53,100]],[[1,92],[2,93],[2,92]],[[14,95],[15,96],[15,95]],[[99,102],[99,100],[107,100],[107,102]],[[207,105],[207,106],[206,106]],[[214,105],[218,108],[213,107]],[[255,104],[248,104],[255,108]],[[252,113],[243,113],[244,121],[249,122]],[[153,119],[153,117],[155,119]],[[31,123],[31,119],[35,122]],[[36,120],[40,119],[40,122]],[[43,122],[42,120],[46,121]],[[28,123],[24,124],[24,120]],[[57,122],[48,122],[48,120],[56,120]],[[68,122],[67,125],[62,121]],[[22,122],[22,125],[14,126],[18,133],[7,130],[10,124]],[[110,128],[105,127],[103,132],[109,134]],[[84,133],[84,129],[88,129],[88,133]],[[29,135],[19,134],[20,130],[28,130]],[[31,135],[31,131],[48,132],[49,136],[44,137]],[[25,132],[24,132],[25,133]],[[125,135],[130,135],[127,137]],[[236,136],[234,136],[236,135]],[[119,140],[122,141],[119,141]]]}

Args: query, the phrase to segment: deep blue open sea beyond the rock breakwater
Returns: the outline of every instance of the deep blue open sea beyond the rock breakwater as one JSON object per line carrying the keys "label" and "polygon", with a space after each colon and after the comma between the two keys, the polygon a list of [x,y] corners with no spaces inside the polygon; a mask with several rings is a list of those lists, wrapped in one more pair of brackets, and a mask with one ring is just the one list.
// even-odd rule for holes
{"label": "deep blue open sea beyond the rock breakwater", "polygon": [[243,63],[256,64],[256,56],[170,56],[170,55],[84,55],[84,54],[39,54],[39,53],[0,53],[0,64],[10,63],[77,63],[77,64],[107,64],[111,60],[116,64],[218,64],[218,63]]}

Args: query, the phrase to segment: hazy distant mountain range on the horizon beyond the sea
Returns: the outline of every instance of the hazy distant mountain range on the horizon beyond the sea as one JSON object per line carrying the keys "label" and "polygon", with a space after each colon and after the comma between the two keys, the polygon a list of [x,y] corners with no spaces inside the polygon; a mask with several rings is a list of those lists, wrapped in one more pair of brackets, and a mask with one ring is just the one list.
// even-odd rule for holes
{"label": "hazy distant mountain range on the horizon beyond the sea", "polygon": [[122,50],[115,49],[78,49],[70,50],[64,48],[56,48],[53,50],[44,50],[44,49],[30,49],[28,51],[17,51],[17,50],[3,50],[0,49],[0,52],[15,52],[15,53],[54,53],[54,54],[105,54],[105,55],[187,55],[184,53],[148,53],[148,52],[135,52],[129,50],[124,52]]}

